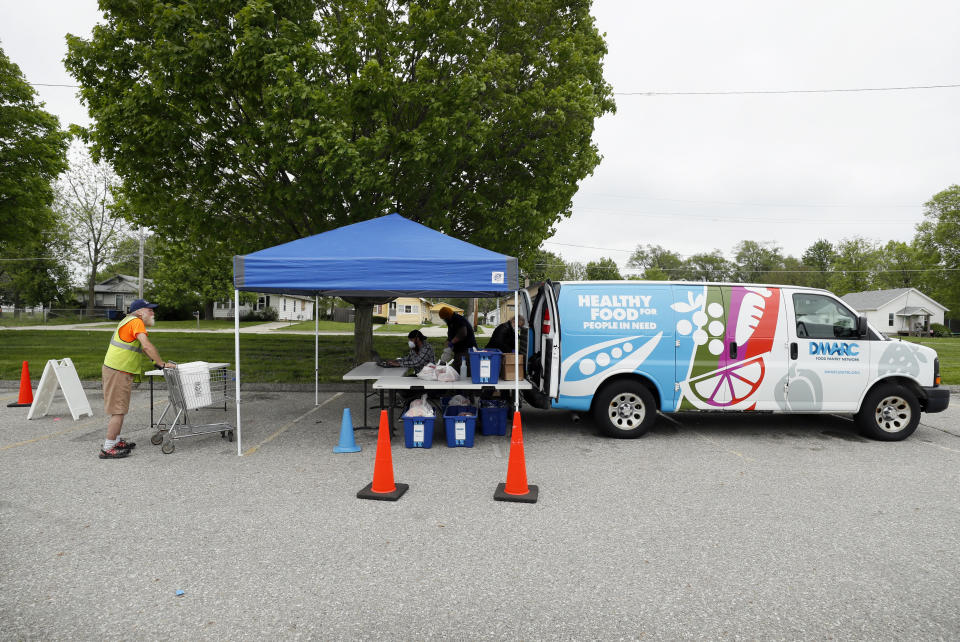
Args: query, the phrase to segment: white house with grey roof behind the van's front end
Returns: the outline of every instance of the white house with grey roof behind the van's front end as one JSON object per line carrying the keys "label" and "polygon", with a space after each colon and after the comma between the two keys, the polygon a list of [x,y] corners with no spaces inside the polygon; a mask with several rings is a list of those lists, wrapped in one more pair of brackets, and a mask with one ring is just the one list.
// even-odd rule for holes
{"label": "white house with grey roof behind the van's front end", "polygon": [[948,310],[916,288],[851,292],[841,298],[886,334],[927,332],[931,323],[943,324]]}

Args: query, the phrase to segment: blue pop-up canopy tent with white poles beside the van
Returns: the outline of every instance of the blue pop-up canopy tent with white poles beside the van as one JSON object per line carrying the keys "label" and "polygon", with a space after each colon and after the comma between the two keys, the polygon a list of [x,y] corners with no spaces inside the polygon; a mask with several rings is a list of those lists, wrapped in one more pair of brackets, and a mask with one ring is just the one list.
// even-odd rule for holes
{"label": "blue pop-up canopy tent with white poles beside the van", "polygon": [[[520,287],[517,259],[437,232],[399,214],[233,257],[240,292],[339,297],[492,297]],[[516,309],[516,307],[514,308]],[[314,314],[318,319],[318,315]],[[318,333],[317,333],[318,334]],[[237,454],[240,446],[240,316],[234,314]],[[314,340],[319,359],[319,340]]]}

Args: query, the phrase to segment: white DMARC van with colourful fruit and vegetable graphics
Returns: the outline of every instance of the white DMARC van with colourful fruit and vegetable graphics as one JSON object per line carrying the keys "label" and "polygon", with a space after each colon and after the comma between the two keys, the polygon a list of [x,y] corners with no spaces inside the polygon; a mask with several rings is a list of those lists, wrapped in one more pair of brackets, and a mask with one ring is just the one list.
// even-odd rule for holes
{"label": "white DMARC van with colourful fruit and vegetable graphics", "polygon": [[888,340],[826,290],[547,281],[525,303],[528,401],[590,411],[614,437],[657,411],[760,410],[854,413],[894,441],[950,401],[934,350]]}

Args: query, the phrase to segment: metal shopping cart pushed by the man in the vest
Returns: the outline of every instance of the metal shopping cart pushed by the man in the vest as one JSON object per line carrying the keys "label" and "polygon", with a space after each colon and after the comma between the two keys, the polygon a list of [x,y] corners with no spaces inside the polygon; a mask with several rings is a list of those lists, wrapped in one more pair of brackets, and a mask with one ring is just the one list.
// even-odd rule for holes
{"label": "metal shopping cart pushed by the man in the vest", "polygon": [[[233,426],[227,422],[212,424],[194,424],[190,422],[190,413],[203,408],[223,406],[231,400],[229,382],[235,381],[234,371],[226,368],[191,368],[183,364],[176,368],[164,368],[163,378],[167,383],[170,403],[167,410],[175,412],[169,425],[163,424],[163,416],[158,421],[158,430],[150,438],[150,443],[160,446],[164,455],[174,450],[173,440],[196,435],[219,432],[221,438],[233,441]],[[164,410],[163,415],[167,414]]]}

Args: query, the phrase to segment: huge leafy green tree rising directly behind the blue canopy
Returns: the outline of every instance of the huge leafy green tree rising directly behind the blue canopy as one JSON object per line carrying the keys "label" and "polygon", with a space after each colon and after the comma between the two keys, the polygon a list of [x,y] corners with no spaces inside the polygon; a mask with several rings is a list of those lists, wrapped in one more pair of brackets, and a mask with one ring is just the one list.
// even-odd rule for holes
{"label": "huge leafy green tree rising directly behind the blue canopy", "polygon": [[590,4],[101,0],[66,65],[134,221],[166,238],[226,259],[396,211],[523,254],[570,215],[614,109]]}

